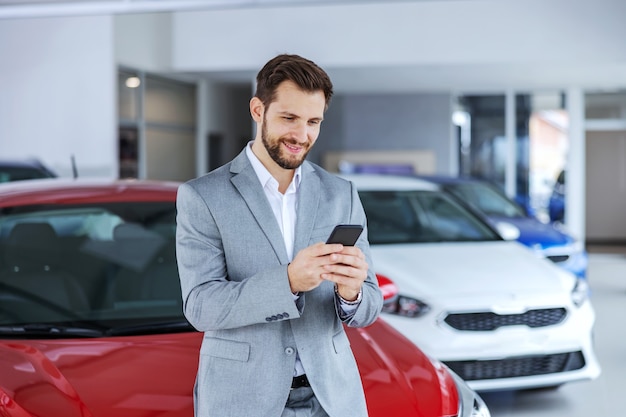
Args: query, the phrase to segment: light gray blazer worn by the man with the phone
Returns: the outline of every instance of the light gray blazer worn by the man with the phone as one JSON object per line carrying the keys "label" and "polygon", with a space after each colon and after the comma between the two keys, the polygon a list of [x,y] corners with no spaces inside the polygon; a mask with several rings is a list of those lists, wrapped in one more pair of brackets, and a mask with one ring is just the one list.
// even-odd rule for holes
{"label": "light gray blazer worn by the man with the phone", "polygon": [[[294,254],[325,241],[339,223],[366,226],[354,186],[302,165]],[[280,228],[245,154],[180,186],[176,251],[184,313],[204,332],[194,392],[197,417],[279,417],[296,350],[331,417],[367,416],[359,372],[338,315],[334,284],[289,287]],[[367,229],[357,246],[370,265],[362,301],[346,320],[368,326],[382,294],[371,270]]]}

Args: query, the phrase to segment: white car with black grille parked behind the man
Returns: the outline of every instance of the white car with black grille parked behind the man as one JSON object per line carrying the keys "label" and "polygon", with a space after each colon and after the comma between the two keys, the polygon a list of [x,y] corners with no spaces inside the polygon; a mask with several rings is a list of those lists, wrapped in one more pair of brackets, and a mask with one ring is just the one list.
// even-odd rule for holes
{"label": "white car with black grille parked behind the man", "polygon": [[477,391],[593,379],[586,280],[503,240],[437,185],[342,175],[368,218],[374,270],[399,289],[383,318]]}

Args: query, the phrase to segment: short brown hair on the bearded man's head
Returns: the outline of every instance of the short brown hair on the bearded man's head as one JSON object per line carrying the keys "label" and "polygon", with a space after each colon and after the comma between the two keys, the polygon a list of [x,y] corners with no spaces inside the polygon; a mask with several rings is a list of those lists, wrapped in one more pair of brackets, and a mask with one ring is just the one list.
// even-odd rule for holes
{"label": "short brown hair on the bearded man's head", "polygon": [[328,108],[333,95],[330,77],[313,61],[299,55],[282,54],[269,60],[256,76],[254,96],[268,106],[275,100],[276,88],[283,81],[292,81],[304,91],[322,91]]}

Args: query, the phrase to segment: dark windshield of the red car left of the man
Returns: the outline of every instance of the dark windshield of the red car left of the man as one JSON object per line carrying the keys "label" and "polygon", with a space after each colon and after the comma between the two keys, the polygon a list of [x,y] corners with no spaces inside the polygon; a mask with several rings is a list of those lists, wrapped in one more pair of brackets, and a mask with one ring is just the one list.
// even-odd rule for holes
{"label": "dark windshield of the red car left of the man", "polygon": [[174,202],[2,209],[0,334],[189,331]]}

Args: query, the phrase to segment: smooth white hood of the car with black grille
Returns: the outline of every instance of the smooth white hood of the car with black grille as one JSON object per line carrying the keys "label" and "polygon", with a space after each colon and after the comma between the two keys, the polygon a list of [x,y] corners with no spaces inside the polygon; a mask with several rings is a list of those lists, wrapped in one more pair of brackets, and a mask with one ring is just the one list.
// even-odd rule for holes
{"label": "smooth white hood of the car with black grille", "polygon": [[372,245],[374,271],[401,294],[457,298],[477,294],[569,294],[574,277],[517,242]]}

